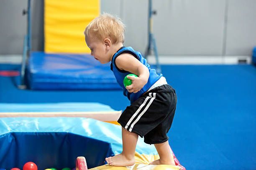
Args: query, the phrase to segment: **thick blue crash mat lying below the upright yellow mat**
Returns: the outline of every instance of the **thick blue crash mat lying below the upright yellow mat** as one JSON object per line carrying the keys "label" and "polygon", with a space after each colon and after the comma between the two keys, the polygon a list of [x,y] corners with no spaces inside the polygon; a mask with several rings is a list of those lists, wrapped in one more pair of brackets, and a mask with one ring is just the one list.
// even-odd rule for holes
{"label": "thick blue crash mat lying below the upright yellow mat", "polygon": [[27,78],[31,89],[120,89],[110,63],[89,54],[31,52]]}

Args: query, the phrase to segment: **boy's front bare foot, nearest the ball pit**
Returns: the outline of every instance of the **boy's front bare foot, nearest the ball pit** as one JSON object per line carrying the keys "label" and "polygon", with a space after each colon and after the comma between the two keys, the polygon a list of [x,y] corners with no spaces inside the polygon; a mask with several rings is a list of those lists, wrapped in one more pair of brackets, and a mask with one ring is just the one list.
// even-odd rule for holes
{"label": "boy's front bare foot, nearest the ball pit", "polygon": [[111,166],[131,166],[135,163],[134,157],[129,159],[125,157],[125,155],[123,155],[122,153],[113,157],[108,157],[105,160]]}

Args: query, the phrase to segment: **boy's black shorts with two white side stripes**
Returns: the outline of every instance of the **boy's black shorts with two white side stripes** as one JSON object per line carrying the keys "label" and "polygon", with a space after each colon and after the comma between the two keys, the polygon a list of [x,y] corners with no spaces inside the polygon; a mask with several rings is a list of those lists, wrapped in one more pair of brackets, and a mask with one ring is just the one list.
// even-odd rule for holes
{"label": "boy's black shorts with two white side stripes", "polygon": [[156,87],[133,102],[121,114],[118,123],[137,133],[148,144],[164,143],[176,110],[177,96],[170,85]]}

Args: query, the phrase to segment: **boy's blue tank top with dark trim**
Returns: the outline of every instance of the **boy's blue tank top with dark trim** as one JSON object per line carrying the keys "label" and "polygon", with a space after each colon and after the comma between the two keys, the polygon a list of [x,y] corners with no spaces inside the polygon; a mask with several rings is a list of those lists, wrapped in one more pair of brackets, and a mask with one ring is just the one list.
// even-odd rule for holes
{"label": "boy's blue tank top with dark trim", "polygon": [[[123,85],[123,79],[125,78],[126,75],[131,74],[131,72],[125,71],[125,70],[120,70],[116,65],[115,65],[115,59],[123,54],[123,53],[128,53],[136,57],[143,65],[145,65],[148,68],[149,71],[149,78],[148,82],[144,87],[136,92],[128,92],[128,90],[124,87]],[[121,47],[112,57],[111,61],[111,70],[114,72],[115,78],[118,82],[118,84],[122,87],[123,89],[123,95],[127,96],[128,99],[130,100],[131,103],[133,103],[135,100],[137,100],[144,92],[146,92],[154,83],[162,77],[162,74],[157,74],[155,69],[151,69],[150,65],[147,63],[147,60],[142,57],[141,53],[138,51],[133,50],[132,47]]]}

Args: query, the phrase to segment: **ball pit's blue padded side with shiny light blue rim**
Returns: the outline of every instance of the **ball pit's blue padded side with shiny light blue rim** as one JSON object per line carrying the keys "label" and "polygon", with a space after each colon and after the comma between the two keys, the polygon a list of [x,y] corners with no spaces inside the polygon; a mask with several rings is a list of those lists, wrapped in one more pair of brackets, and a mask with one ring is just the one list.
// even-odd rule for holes
{"label": "ball pit's blue padded side with shiny light blue rim", "polygon": [[[32,161],[38,170],[74,168],[84,156],[88,168],[122,152],[121,126],[81,117],[8,117],[0,119],[0,168],[22,168]],[[154,145],[138,139],[139,154],[157,155]]]}

